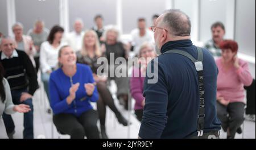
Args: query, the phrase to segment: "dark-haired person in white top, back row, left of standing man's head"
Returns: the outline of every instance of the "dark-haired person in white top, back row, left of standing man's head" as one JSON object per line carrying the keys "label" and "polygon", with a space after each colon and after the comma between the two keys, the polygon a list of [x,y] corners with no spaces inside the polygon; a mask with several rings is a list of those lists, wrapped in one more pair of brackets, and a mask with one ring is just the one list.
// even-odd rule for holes
{"label": "dark-haired person in white top, back row, left of standing man's head", "polygon": [[154,33],[146,27],[146,20],[139,18],[138,28],[131,31],[131,45],[134,47],[135,55],[138,55],[139,47],[141,47],[145,41],[154,44]]}

